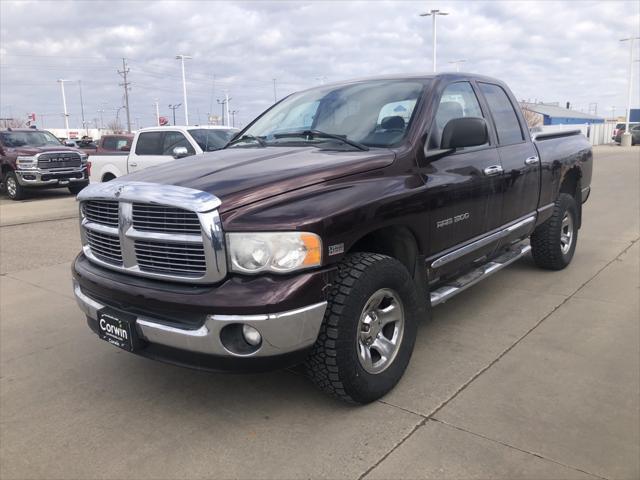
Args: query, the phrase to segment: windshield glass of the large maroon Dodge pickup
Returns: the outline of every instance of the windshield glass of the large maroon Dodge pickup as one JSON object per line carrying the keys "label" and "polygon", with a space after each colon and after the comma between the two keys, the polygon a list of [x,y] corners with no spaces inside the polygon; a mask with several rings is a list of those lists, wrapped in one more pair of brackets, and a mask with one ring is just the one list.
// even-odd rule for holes
{"label": "windshield glass of the large maroon Dodge pickup", "polygon": [[429,80],[422,79],[372,80],[296,93],[256,120],[240,137],[246,139],[234,146],[258,145],[256,138],[268,145],[336,142],[319,135],[299,135],[315,131],[368,147],[390,147],[406,136],[428,84]]}

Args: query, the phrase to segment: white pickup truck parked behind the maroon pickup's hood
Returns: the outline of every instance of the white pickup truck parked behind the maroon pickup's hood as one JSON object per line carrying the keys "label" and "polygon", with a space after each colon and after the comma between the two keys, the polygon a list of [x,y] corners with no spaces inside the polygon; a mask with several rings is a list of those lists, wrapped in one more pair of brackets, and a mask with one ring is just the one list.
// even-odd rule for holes
{"label": "white pickup truck parked behind the maroon pickup's hood", "polygon": [[90,181],[108,182],[176,158],[218,150],[238,131],[237,128],[211,125],[142,128],[136,132],[128,154],[91,155]]}

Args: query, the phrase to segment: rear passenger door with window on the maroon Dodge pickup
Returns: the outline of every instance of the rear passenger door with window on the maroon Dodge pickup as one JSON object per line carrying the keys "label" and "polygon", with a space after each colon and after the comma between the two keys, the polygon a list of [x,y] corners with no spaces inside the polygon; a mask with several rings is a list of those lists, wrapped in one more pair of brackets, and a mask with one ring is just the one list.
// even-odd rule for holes
{"label": "rear passenger door with window on the maroon Dodge pickup", "polygon": [[502,174],[503,224],[532,215],[540,195],[540,159],[517,106],[500,85],[479,82],[498,137]]}

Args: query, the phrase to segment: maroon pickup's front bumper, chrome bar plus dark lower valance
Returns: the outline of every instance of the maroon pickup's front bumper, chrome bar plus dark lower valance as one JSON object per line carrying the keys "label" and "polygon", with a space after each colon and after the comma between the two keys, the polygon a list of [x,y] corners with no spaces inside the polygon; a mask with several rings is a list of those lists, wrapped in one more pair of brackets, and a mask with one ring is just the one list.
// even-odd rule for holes
{"label": "maroon pickup's front bumper, chrome bar plus dark lower valance", "polygon": [[[76,280],[73,287],[78,305],[87,315],[91,328],[96,330],[98,312],[117,306],[91,298]],[[270,362],[252,368],[247,360],[255,359],[255,366],[260,359],[281,357],[284,360],[308,350],[318,336],[326,305],[323,301],[294,310],[256,315],[209,314],[197,328],[172,326],[163,319],[139,314],[135,329],[143,346],[134,353],[206,370],[244,370],[245,367],[259,370]],[[245,324],[260,332],[262,342],[253,351],[239,353],[229,348],[228,342],[224,343],[222,332],[225,327]],[[234,359],[238,360],[235,365]]]}

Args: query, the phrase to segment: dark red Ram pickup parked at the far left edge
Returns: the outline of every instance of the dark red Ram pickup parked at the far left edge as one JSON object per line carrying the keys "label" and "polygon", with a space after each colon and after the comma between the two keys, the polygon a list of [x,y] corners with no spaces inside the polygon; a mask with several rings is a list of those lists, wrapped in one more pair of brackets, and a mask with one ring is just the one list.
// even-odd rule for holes
{"label": "dark red Ram pickup parked at the far left edge", "polygon": [[87,155],[46,130],[1,130],[0,168],[0,183],[12,200],[35,188],[66,187],[77,194],[89,183]]}

